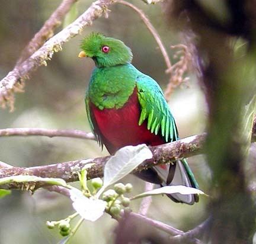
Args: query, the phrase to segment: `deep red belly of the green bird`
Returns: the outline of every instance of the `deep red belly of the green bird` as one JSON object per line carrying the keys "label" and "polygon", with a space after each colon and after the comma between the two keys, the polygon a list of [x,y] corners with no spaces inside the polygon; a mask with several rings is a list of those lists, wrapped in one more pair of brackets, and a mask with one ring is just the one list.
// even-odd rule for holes
{"label": "deep red belly of the green bird", "polygon": [[161,135],[155,135],[147,129],[147,121],[139,126],[140,104],[137,89],[122,108],[100,110],[91,104],[91,112],[103,143],[111,154],[123,146],[142,143],[156,146],[165,143]]}

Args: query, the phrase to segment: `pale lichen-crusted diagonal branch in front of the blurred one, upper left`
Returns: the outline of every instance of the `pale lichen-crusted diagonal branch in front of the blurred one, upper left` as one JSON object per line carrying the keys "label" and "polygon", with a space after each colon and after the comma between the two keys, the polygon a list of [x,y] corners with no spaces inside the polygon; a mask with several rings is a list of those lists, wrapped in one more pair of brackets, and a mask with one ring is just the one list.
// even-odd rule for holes
{"label": "pale lichen-crusted diagonal branch in front of the blurred one, upper left", "polygon": [[87,11],[72,24],[46,41],[39,50],[9,72],[0,81],[0,106],[5,108],[8,105],[13,110],[14,92],[21,91],[25,79],[28,78],[31,72],[41,65],[47,65],[46,61],[50,60],[55,52],[62,50],[62,46],[66,41],[81,33],[85,26],[91,25],[92,21],[100,17],[111,4],[113,4],[111,0],[97,0],[93,2]]}

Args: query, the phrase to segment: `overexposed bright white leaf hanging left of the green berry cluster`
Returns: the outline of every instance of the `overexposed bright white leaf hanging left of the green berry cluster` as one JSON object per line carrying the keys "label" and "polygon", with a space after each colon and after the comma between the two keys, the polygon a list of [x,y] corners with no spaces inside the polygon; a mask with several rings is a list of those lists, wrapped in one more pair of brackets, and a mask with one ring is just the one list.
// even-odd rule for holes
{"label": "overexposed bright white leaf hanging left of the green berry cluster", "polygon": [[99,219],[104,211],[107,203],[103,200],[85,197],[82,191],[76,188],[69,190],[73,208],[85,220],[95,221]]}

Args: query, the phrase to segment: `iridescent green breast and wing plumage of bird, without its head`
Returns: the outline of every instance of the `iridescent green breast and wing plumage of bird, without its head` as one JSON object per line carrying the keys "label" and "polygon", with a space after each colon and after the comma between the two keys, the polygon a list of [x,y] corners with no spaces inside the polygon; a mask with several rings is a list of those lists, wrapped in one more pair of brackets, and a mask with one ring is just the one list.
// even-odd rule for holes
{"label": "iridescent green breast and wing plumage of bird, without its head", "polygon": [[[123,75],[120,75],[122,73]],[[123,107],[137,86],[142,108],[139,125],[147,120],[148,130],[155,134],[158,134],[160,130],[165,142],[178,139],[177,127],[162,90],[150,76],[144,75],[129,64],[111,68],[96,68],[92,72],[91,81],[87,98],[89,96],[100,110]],[[91,122],[90,124],[92,126]]]}

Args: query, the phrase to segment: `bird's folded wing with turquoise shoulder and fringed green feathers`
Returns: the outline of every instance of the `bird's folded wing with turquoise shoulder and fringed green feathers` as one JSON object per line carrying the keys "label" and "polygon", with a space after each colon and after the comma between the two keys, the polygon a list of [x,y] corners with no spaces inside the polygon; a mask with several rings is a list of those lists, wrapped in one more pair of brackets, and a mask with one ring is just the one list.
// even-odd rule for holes
{"label": "bird's folded wing with turquoise shoulder and fringed green feathers", "polygon": [[178,140],[178,130],[174,117],[160,86],[150,76],[137,77],[137,91],[142,108],[139,125],[148,119],[148,130],[158,134],[161,131],[166,142]]}

